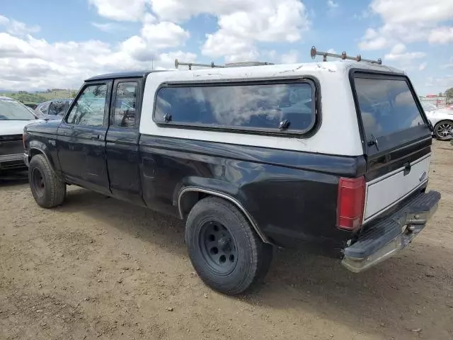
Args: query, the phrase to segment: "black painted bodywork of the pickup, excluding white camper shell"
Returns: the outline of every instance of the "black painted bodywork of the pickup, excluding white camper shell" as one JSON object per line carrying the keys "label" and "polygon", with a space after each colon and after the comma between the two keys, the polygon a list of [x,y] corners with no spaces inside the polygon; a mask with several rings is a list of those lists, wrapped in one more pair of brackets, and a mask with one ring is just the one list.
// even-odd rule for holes
{"label": "black painted bodywork of the pickup, excluding white camper shell", "polygon": [[[140,89],[146,75],[135,78]],[[121,78],[132,77],[138,75]],[[242,205],[269,242],[334,256],[354,237],[336,227],[339,178],[375,178],[427,154],[431,145],[423,136],[369,159],[365,152],[340,157],[140,135],[138,128],[109,128],[109,115],[98,128],[64,119],[28,125],[29,156],[44,153],[67,183],[172,215],[180,216],[178,204],[188,203],[189,196],[180,197],[183,188],[221,193]]]}

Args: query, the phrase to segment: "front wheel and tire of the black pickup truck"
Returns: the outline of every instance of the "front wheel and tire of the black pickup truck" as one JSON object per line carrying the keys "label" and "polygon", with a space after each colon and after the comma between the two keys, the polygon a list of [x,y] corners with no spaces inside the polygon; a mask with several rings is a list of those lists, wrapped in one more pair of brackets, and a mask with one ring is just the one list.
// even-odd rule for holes
{"label": "front wheel and tire of the black pickup truck", "polygon": [[42,154],[32,157],[28,167],[28,181],[33,198],[42,208],[55,208],[63,203],[66,183],[55,176]]}

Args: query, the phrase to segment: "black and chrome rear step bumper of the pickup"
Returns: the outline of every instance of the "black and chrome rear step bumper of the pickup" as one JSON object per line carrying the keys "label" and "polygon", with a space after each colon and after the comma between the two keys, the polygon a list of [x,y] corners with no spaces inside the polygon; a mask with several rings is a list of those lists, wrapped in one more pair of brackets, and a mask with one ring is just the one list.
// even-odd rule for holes
{"label": "black and chrome rear step bumper of the pickup", "polygon": [[344,249],[343,266],[359,273],[377,265],[407,246],[437,210],[440,193],[421,193],[394,214],[364,229]]}

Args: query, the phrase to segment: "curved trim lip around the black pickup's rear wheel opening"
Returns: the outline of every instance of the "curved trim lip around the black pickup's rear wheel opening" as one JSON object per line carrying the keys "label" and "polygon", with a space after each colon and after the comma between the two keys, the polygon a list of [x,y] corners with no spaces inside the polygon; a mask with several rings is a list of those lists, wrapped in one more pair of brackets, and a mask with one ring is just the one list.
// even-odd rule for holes
{"label": "curved trim lip around the black pickup's rear wheel opening", "polygon": [[239,208],[239,210],[243,213],[243,215],[246,217],[248,222],[252,225],[253,229],[255,230],[256,234],[258,234],[258,237],[260,239],[268,244],[272,244],[268,237],[261,231],[260,227],[258,227],[257,223],[255,220],[253,220],[253,217],[248,213],[246,208],[243,207],[243,205],[237,200],[236,198],[226,194],[222,193],[219,191],[215,191],[212,189],[206,189],[206,188],[199,188],[195,186],[188,186],[183,189],[181,189],[178,193],[178,212],[180,215],[181,219],[184,219],[190,210],[193,208],[193,206],[199,201],[202,200],[202,198],[205,198],[207,196],[215,196],[219,198],[223,198],[224,200],[228,200],[230,203],[233,203],[236,208]]}

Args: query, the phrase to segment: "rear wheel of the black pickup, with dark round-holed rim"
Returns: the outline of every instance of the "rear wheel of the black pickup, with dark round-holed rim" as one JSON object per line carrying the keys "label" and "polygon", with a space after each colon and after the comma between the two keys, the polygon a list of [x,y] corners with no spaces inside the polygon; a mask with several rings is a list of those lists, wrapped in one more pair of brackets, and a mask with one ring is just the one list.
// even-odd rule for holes
{"label": "rear wheel of the black pickup, with dark round-holed rim", "polygon": [[255,288],[273,257],[273,246],[261,241],[242,212],[217,197],[204,198],[190,210],[185,243],[198,276],[228,295]]}

